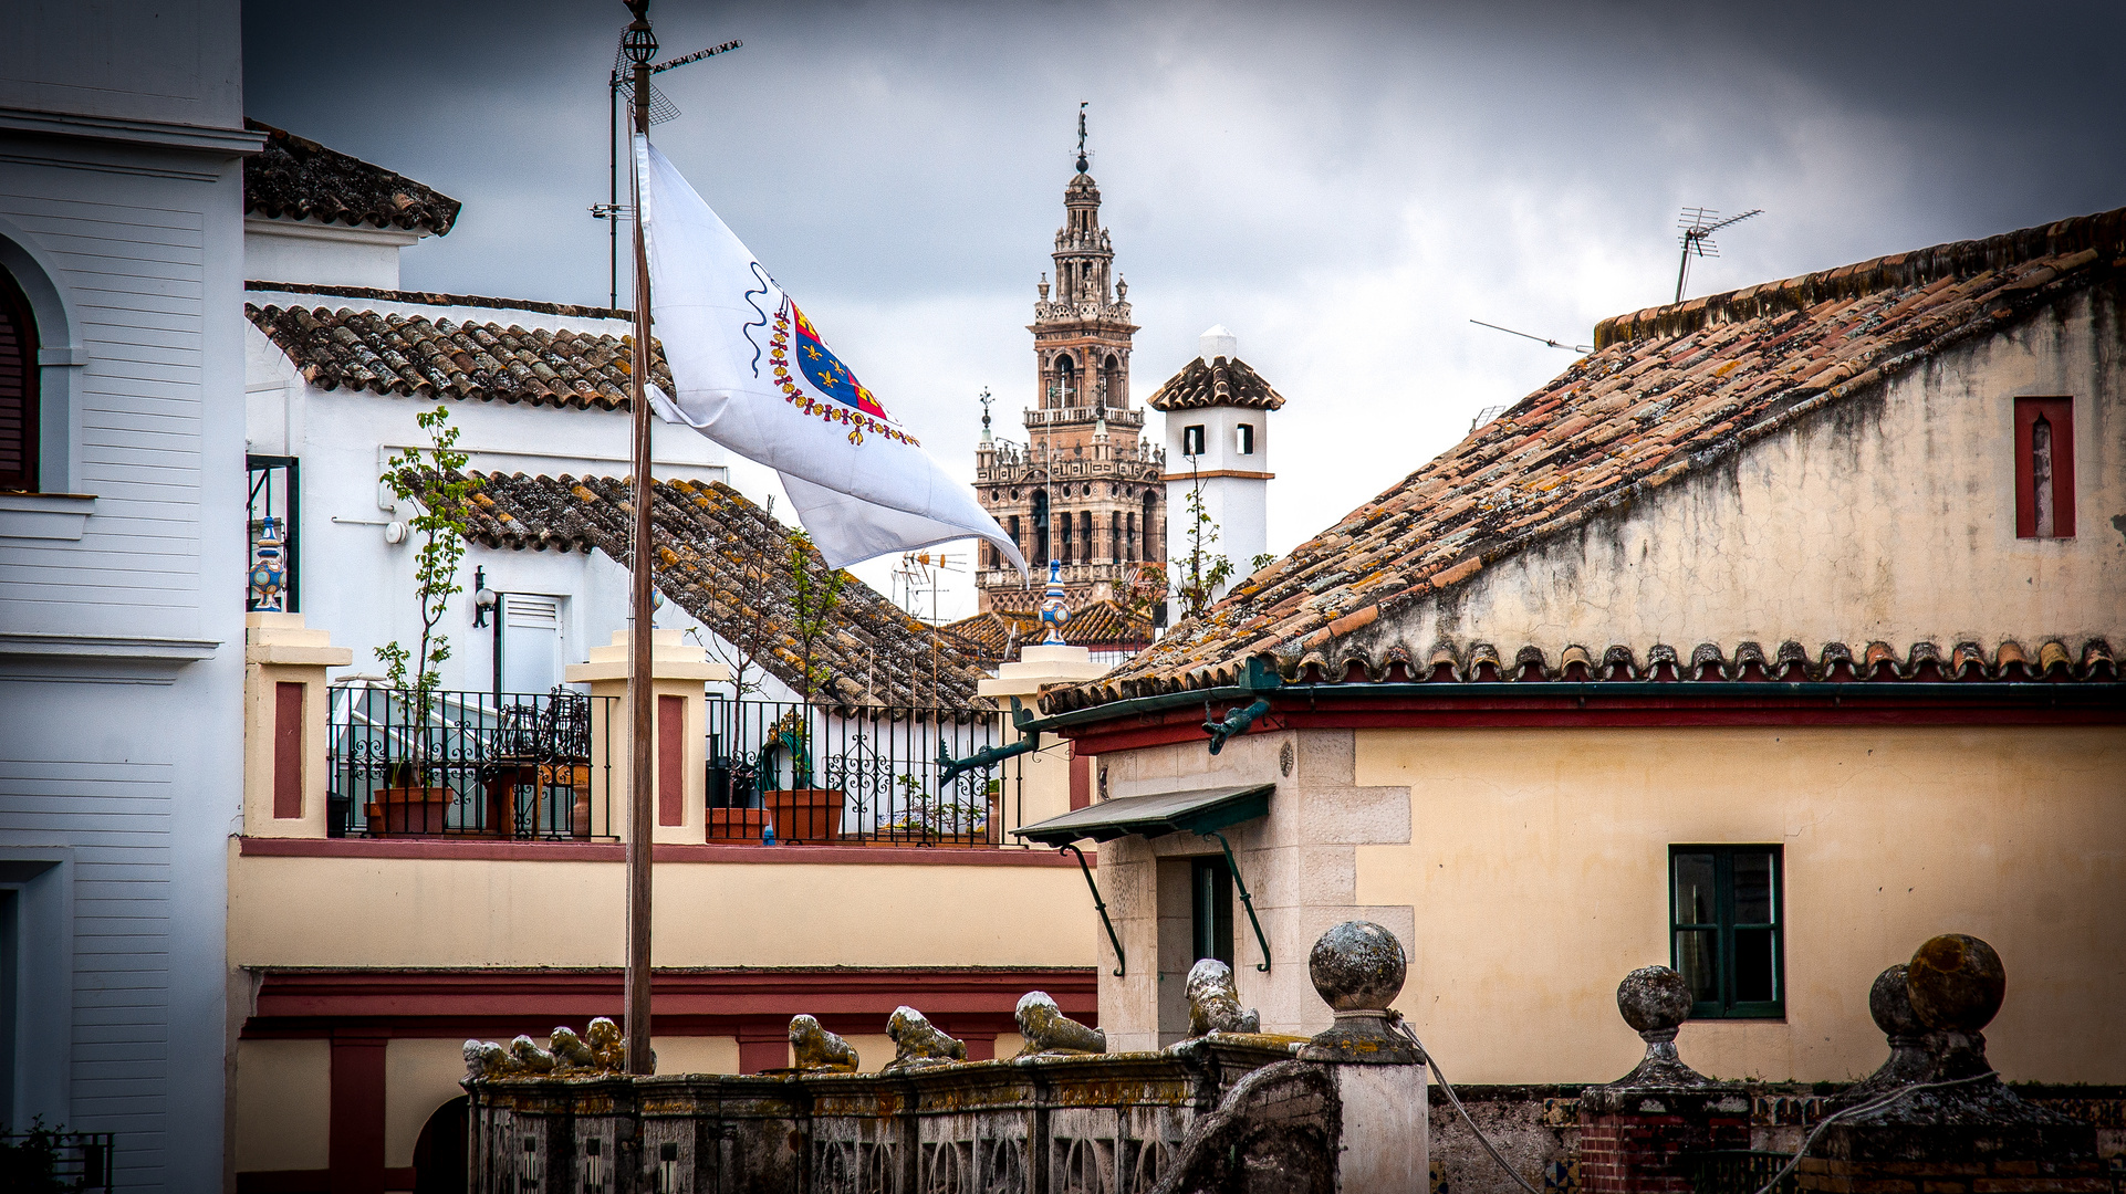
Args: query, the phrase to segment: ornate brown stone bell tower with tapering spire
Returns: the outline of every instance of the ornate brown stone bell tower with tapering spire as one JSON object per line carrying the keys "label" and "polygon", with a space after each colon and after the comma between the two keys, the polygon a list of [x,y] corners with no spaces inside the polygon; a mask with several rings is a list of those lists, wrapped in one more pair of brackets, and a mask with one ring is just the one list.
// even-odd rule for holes
{"label": "ornate brown stone bell tower with tapering spire", "polygon": [[[1163,565],[1165,453],[1144,440],[1144,408],[1129,402],[1129,283],[1114,274],[1114,242],[1099,223],[1099,185],[1089,174],[1086,113],[1078,104],[1076,174],[1063,187],[1054,285],[1035,287],[1033,404],[1027,440],[976,448],[976,495],[1042,569],[1061,563],[1065,599],[1127,599],[1161,586],[1144,565]],[[976,589],[982,610],[1031,610],[1018,572],[982,548]]]}

